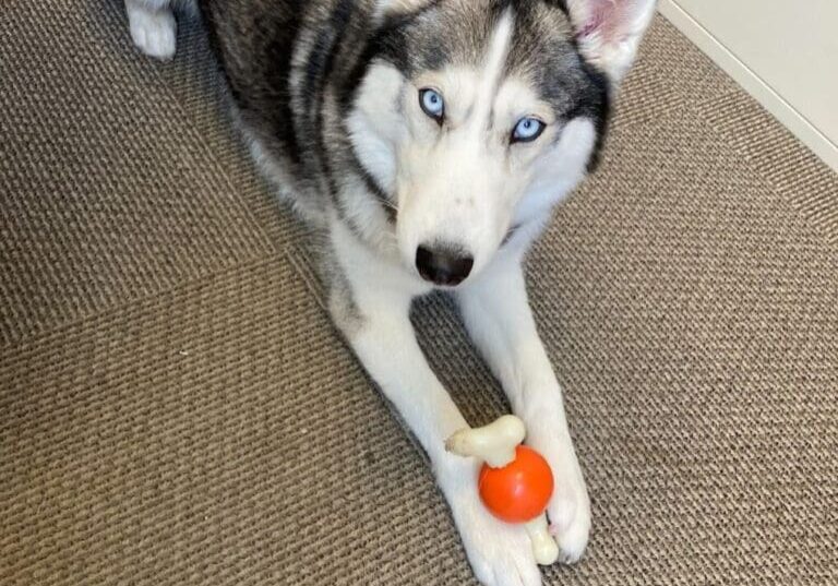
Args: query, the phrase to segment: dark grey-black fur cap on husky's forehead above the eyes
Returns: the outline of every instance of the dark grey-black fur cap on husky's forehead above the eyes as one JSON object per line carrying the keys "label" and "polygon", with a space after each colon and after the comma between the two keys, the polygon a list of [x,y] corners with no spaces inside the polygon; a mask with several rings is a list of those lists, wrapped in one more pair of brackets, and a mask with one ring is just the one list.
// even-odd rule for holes
{"label": "dark grey-black fur cap on husky's forehead above the eyes", "polygon": [[[368,39],[348,76],[342,95],[344,108],[351,108],[360,83],[376,60],[392,63],[407,77],[452,62],[479,65],[491,33],[507,9],[515,13],[507,74],[531,80],[560,123],[579,117],[591,120],[597,139],[588,168],[594,170],[611,115],[610,83],[579,53],[563,0],[498,0],[490,10],[481,2],[432,0],[412,12],[391,16]],[[556,31],[563,34],[556,35]],[[476,37],[483,43],[476,44]]]}

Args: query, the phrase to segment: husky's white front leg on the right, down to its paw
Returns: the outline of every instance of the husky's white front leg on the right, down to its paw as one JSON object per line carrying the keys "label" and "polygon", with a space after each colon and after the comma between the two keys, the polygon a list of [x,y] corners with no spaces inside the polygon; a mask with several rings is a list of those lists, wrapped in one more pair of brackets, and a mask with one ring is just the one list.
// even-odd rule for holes
{"label": "husky's white front leg on the right, down to its paw", "polygon": [[587,547],[590,503],[519,259],[500,259],[457,297],[469,334],[527,426],[527,443],[553,468],[556,488],[548,514],[563,561],[573,563]]}

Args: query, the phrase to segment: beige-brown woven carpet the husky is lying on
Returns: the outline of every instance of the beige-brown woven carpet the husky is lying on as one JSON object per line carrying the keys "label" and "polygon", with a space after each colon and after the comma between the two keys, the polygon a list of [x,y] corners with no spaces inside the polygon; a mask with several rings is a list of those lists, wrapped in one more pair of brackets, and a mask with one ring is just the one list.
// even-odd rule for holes
{"label": "beige-brown woven carpet the husky is lying on", "polygon": [[[0,584],[472,584],[200,29],[0,5]],[[594,500],[550,584],[838,584],[838,180],[666,22],[531,259]],[[417,313],[475,423],[504,409]]]}

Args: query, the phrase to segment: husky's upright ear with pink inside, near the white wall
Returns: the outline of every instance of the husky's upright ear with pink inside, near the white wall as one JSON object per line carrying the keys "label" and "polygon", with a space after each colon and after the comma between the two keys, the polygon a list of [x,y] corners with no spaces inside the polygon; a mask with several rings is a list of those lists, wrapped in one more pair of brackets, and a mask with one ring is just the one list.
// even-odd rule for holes
{"label": "husky's upright ear with pink inside, near the white wall", "polygon": [[566,0],[579,51],[619,84],[632,67],[657,0]]}

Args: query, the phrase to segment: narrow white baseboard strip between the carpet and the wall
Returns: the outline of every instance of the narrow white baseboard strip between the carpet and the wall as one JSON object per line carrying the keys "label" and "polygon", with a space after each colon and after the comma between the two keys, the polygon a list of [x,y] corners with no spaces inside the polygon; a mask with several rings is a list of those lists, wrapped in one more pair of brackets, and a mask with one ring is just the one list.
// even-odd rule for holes
{"label": "narrow white baseboard strip between the carpet and the wall", "polygon": [[781,95],[725,47],[701,23],[678,5],[677,0],[661,0],[658,10],[681,33],[739,83],[759,104],[809,146],[829,167],[838,171],[838,145],[817,130]]}

